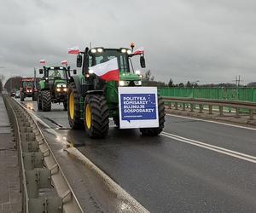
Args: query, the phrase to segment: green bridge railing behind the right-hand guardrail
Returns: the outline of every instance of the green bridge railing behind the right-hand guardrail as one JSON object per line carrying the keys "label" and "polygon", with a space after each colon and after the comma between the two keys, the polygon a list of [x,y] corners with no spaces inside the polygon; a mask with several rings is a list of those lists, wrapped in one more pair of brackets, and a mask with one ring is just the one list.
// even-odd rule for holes
{"label": "green bridge railing behind the right-hand guardrail", "polygon": [[204,98],[256,102],[256,88],[160,88],[167,97]]}

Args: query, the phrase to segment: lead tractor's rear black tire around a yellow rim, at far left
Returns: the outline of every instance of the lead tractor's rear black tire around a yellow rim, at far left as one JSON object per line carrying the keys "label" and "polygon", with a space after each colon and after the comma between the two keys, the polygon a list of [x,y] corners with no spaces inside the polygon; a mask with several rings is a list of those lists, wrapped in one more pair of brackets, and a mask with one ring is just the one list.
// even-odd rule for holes
{"label": "lead tractor's rear black tire around a yellow rim, at far left", "polygon": [[[70,95],[73,94],[73,116],[71,116]],[[80,119],[80,95],[76,89],[76,84],[70,83],[67,92],[67,116],[68,122],[72,129],[84,129],[84,121]]]}

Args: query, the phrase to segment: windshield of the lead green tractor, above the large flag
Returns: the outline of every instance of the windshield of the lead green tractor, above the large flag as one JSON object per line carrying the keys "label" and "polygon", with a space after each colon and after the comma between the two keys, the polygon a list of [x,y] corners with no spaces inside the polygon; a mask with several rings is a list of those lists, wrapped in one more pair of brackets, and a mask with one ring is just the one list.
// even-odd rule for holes
{"label": "windshield of the lead green tractor, above the large flag", "polygon": [[119,49],[104,49],[101,53],[91,53],[89,54],[89,66],[95,66],[101,64],[113,58],[118,59],[119,71],[120,72],[130,72],[128,55],[126,53],[121,53]]}

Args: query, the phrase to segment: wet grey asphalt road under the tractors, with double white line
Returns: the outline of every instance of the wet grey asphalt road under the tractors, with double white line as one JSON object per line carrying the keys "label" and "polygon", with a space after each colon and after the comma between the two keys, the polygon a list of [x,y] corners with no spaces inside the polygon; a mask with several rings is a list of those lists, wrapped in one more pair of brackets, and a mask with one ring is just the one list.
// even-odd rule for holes
{"label": "wet grey asphalt road under the tractors, with double white line", "polygon": [[62,106],[23,104],[151,212],[256,212],[256,130],[166,116],[157,137],[111,122],[105,140],[91,140],[70,130]]}

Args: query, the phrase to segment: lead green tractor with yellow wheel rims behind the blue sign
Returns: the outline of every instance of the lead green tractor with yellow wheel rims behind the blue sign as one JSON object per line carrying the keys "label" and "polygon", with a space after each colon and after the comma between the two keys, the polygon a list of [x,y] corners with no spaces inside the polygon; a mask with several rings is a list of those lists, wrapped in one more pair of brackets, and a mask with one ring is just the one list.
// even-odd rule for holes
{"label": "lead green tractor with yellow wheel rims behind the blue sign", "polygon": [[[133,47],[131,47],[133,49]],[[140,87],[142,76],[133,71],[131,49],[86,48],[77,56],[77,66],[82,73],[70,79],[67,94],[67,115],[73,129],[84,129],[91,138],[103,138],[108,135],[108,118],[113,118],[119,127],[119,87]],[[106,82],[90,72],[90,66],[96,66],[117,58],[119,82]],[[145,67],[144,56],[140,56],[141,66]],[[142,135],[159,135],[165,123],[164,101],[158,97],[159,127],[141,128]]]}

